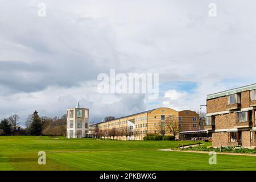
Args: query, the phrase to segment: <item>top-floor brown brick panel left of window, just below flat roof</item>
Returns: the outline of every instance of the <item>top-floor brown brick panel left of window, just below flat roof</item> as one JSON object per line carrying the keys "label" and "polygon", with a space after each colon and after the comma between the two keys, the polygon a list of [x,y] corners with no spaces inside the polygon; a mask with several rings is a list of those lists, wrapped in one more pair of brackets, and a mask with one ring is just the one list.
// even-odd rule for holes
{"label": "top-floor brown brick panel left of window, just below flat roof", "polygon": [[207,100],[207,113],[225,111],[228,105],[228,96]]}

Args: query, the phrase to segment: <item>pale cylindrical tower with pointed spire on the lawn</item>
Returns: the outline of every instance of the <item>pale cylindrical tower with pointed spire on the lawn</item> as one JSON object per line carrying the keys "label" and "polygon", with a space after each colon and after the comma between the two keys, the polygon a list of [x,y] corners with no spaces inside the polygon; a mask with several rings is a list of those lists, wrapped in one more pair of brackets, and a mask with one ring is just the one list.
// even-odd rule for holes
{"label": "pale cylindrical tower with pointed spire on the lawn", "polygon": [[79,102],[75,108],[67,109],[67,138],[84,138],[89,131],[89,109],[81,108]]}

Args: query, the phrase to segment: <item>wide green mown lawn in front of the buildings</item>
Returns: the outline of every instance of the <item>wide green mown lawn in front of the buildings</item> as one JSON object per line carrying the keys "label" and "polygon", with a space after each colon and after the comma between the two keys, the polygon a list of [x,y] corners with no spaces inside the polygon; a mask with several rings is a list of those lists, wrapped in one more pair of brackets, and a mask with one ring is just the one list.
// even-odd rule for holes
{"label": "wide green mown lawn in front of the buildings", "polygon": [[256,170],[256,156],[217,155],[209,165],[208,154],[157,151],[178,143],[194,142],[0,137],[0,170]]}

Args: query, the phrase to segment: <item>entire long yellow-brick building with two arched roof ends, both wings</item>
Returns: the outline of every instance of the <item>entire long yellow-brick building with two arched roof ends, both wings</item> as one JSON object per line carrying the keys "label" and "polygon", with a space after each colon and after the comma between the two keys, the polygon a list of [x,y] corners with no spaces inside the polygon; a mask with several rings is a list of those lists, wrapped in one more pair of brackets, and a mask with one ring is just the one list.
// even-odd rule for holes
{"label": "entire long yellow-brick building with two arched roof ends, both wings", "polygon": [[[98,123],[98,132],[103,137],[142,140],[146,134],[172,135],[168,132],[166,122],[177,122],[182,138],[202,137],[207,131],[199,125],[199,115],[195,111],[176,111],[168,107],[160,107],[127,115],[112,121]],[[108,136],[109,135],[109,136]]]}

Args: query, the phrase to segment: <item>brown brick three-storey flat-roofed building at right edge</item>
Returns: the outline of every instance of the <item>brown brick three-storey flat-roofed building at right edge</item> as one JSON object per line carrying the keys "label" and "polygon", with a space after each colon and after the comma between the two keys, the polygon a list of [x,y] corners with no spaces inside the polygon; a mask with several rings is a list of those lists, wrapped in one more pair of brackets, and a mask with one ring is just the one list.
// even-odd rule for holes
{"label": "brown brick three-storey flat-roofed building at right edge", "polygon": [[256,147],[256,84],[209,94],[205,130],[213,147]]}

